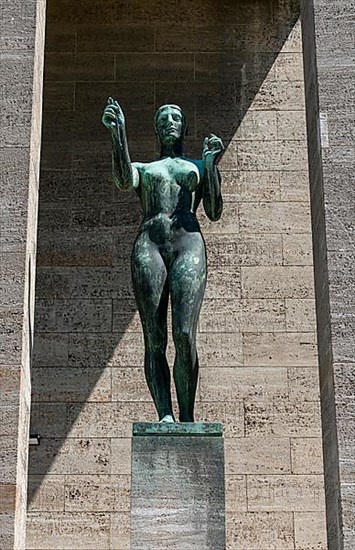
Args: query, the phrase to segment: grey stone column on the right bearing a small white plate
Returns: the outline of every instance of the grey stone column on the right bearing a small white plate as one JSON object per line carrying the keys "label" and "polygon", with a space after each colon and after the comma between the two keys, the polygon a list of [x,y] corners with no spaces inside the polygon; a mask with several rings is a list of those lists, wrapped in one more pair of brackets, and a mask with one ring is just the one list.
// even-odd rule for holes
{"label": "grey stone column on the right bearing a small white plate", "polygon": [[330,550],[355,548],[354,7],[302,3]]}

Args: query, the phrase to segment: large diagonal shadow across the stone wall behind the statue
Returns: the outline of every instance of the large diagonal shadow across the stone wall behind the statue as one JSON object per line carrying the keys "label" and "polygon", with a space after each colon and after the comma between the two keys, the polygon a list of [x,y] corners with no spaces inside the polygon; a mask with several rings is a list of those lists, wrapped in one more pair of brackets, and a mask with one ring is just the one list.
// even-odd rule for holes
{"label": "large diagonal shadow across the stone wall behind the statue", "polygon": [[60,473],[56,455],[85,404],[116,399],[108,367],[142,364],[130,280],[141,210],[112,183],[100,122],[107,97],[124,108],[133,160],[156,156],[154,112],[169,102],[187,113],[187,154],[199,157],[213,131],[226,145],[222,169],[233,171],[228,146],[257,93],[262,110],[266,77],[268,105],[274,93],[278,108],[273,65],[299,16],[293,0],[65,7],[48,0],[32,369],[32,431],[42,443],[30,453],[30,500],[48,471]]}

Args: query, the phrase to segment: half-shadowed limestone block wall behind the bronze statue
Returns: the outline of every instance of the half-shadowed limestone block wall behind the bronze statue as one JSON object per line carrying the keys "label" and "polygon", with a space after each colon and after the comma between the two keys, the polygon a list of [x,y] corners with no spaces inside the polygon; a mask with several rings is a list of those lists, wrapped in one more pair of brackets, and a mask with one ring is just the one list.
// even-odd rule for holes
{"label": "half-shadowed limestone block wall behind the bronze statue", "polygon": [[[299,6],[292,0],[48,0],[28,550],[129,548],[132,421],[155,419],[130,282],[140,220],[114,189],[109,95],[131,156],[155,108],[186,149],[226,145],[197,418],[225,423],[227,544],[326,548]],[[170,362],[173,350],[169,349]]]}

